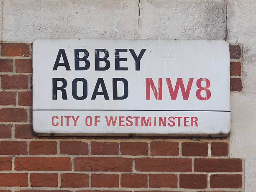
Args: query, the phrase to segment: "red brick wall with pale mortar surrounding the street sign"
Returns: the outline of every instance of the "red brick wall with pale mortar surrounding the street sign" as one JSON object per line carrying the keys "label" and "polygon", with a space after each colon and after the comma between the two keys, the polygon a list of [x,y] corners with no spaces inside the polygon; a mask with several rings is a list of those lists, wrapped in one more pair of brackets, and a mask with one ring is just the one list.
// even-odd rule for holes
{"label": "red brick wall with pale mortar surrounding the street sign", "polygon": [[[32,44],[1,43],[0,192],[243,190],[229,138],[38,137],[32,133]],[[230,45],[242,91],[241,45]]]}

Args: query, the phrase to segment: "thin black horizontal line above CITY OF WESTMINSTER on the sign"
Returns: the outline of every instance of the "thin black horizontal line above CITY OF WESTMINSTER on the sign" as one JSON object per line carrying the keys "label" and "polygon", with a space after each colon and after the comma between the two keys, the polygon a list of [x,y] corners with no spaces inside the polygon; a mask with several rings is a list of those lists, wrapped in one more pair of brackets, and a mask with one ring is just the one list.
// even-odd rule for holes
{"label": "thin black horizontal line above CITY OF WESTMINSTER on the sign", "polygon": [[33,111],[199,111],[230,112],[225,110],[146,110],[146,109],[33,109]]}

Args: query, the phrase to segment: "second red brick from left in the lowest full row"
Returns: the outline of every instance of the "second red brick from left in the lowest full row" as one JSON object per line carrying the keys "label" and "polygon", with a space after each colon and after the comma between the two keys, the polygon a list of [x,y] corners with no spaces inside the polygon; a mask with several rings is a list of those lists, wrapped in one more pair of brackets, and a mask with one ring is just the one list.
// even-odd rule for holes
{"label": "second red brick from left in the lowest full row", "polygon": [[31,173],[31,187],[58,187],[58,174]]}

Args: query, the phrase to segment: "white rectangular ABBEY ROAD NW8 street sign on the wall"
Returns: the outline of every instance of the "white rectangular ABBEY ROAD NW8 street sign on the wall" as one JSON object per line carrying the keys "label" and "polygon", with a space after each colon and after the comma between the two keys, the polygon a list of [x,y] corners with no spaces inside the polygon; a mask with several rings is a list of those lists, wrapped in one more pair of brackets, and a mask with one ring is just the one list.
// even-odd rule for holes
{"label": "white rectangular ABBEY ROAD NW8 street sign on the wall", "polygon": [[39,136],[227,136],[229,44],[211,40],[38,39]]}

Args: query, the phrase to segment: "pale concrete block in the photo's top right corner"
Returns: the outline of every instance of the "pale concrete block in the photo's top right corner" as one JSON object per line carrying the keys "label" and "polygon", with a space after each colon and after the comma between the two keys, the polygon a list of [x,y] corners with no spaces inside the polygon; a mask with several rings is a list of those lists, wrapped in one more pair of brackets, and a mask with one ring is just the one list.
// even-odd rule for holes
{"label": "pale concrete block in the photo's top right corner", "polygon": [[256,44],[256,1],[228,0],[229,43]]}

